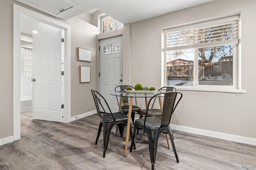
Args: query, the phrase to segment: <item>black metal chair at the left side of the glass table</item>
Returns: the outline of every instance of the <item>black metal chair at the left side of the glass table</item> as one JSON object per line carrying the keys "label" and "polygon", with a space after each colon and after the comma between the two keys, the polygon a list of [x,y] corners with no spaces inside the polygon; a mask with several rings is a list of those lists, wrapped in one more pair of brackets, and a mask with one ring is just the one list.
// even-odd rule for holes
{"label": "black metal chair at the left side of the glass table", "polygon": [[[100,137],[100,132],[101,132],[101,129],[102,129],[102,126],[103,126],[103,140],[104,140],[103,158],[105,158],[106,150],[108,148],[108,141],[109,141],[109,138],[110,138],[110,132],[111,132],[112,128],[115,125],[119,125],[119,126],[127,125],[128,117],[126,115],[124,115],[123,113],[120,113],[120,112],[112,113],[112,111],[110,110],[110,107],[108,106],[108,103],[107,103],[106,99],[104,99],[104,97],[98,91],[93,90],[93,89],[91,89],[91,91],[92,91],[92,96],[93,96],[93,99],[94,99],[94,102],[95,102],[95,105],[96,105],[97,113],[100,117],[100,125],[99,125],[98,134],[97,134],[97,137],[96,137],[95,144],[97,144],[97,142],[98,142],[98,139]],[[99,95],[100,97],[102,97],[102,99],[105,101],[110,113],[107,113],[105,111],[104,107],[100,103],[100,100],[99,100],[99,98],[97,97],[97,95],[95,93],[97,95]],[[100,111],[99,104],[102,107],[104,112]],[[131,138],[132,138],[132,127],[130,127],[130,135],[131,135]],[[133,144],[133,146],[134,146],[134,149],[136,149],[135,144]]]}

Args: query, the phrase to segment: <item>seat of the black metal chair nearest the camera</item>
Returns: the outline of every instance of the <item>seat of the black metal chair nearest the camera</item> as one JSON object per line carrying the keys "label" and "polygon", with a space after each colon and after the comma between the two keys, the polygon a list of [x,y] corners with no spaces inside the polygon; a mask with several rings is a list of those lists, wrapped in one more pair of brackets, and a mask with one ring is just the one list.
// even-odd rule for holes
{"label": "seat of the black metal chair nearest the camera", "polygon": [[[135,124],[138,124],[138,127],[144,127],[144,119],[136,119]],[[159,117],[147,117],[145,128],[148,130],[158,130],[161,126],[162,119]]]}

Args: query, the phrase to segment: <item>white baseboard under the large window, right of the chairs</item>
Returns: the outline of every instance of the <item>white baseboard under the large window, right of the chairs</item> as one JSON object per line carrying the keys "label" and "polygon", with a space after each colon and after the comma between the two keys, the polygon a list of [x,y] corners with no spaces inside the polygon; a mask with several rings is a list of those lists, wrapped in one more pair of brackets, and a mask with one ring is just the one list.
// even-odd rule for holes
{"label": "white baseboard under the large window, right of the chairs", "polygon": [[243,137],[243,136],[236,136],[233,134],[213,132],[210,130],[202,130],[202,129],[198,129],[198,128],[184,127],[184,126],[172,125],[172,124],[171,124],[171,128],[172,128],[172,130],[179,130],[182,132],[200,134],[203,136],[209,136],[209,137],[213,137],[213,138],[219,138],[219,139],[224,139],[224,140],[231,140],[234,142],[256,145],[256,139],[254,139],[254,138],[247,138],[247,137]]}

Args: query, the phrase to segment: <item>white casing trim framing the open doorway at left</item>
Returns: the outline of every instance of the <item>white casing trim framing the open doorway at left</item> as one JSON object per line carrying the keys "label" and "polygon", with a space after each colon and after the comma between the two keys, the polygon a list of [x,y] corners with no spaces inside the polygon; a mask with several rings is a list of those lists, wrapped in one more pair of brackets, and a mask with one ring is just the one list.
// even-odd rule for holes
{"label": "white casing trim framing the open doorway at left", "polygon": [[20,139],[20,16],[64,30],[64,122],[71,121],[71,26],[13,4],[13,140]]}

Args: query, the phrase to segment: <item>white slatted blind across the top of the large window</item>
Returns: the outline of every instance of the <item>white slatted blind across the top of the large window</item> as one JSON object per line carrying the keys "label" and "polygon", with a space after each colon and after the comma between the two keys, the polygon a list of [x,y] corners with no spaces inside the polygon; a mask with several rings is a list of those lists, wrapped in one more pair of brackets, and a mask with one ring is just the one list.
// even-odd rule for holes
{"label": "white slatted blind across the top of the large window", "polygon": [[238,43],[239,16],[164,30],[164,51]]}

